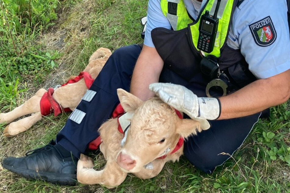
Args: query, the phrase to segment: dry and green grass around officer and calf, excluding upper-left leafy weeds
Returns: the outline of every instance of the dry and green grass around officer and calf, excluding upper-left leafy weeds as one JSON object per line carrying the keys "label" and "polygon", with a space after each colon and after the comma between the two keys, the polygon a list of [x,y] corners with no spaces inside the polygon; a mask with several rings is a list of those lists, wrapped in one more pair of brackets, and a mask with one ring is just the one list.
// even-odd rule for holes
{"label": "dry and green grass around officer and calf, excluding upper-left leafy weeds", "polygon": [[[34,36],[25,36],[27,49],[41,47],[41,65],[50,74],[19,77],[21,71],[8,71],[8,62],[0,64],[1,111],[10,111],[41,87],[63,83],[66,77],[78,74],[98,47],[114,50],[140,43],[139,19],[146,15],[147,1],[138,0],[64,0],[59,2],[57,20],[47,30],[41,28]],[[50,57],[46,55],[50,53]],[[3,61],[8,60],[1,53]],[[57,55],[57,56],[55,56]],[[41,58],[38,58],[41,59]],[[21,76],[21,75],[20,75]],[[35,76],[38,76],[34,82]],[[40,84],[38,83],[40,82]],[[0,161],[7,156],[23,156],[30,149],[47,144],[55,138],[69,114],[49,116],[27,132],[15,137],[0,137]],[[18,177],[0,166],[0,192],[228,192],[270,193],[290,192],[290,108],[289,103],[271,108],[268,120],[260,120],[243,146],[213,174],[204,174],[184,157],[178,163],[166,163],[161,173],[141,180],[129,174],[117,188],[108,190],[100,185],[58,186],[44,181]],[[1,126],[1,132],[4,125]],[[96,168],[105,161],[95,156]]]}

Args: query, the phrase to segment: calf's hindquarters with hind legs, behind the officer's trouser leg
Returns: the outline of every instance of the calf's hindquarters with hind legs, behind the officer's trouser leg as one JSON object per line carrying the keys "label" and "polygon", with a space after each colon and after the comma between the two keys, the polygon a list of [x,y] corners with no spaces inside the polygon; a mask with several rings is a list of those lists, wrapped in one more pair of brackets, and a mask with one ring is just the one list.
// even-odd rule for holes
{"label": "calf's hindquarters with hind legs, behind the officer's trouser leg", "polygon": [[[89,64],[84,69],[88,72],[93,79],[97,77],[99,72],[102,70],[104,64],[108,60],[112,52],[106,48],[99,48],[95,51],[90,59]],[[73,78],[73,77],[72,77]],[[77,92],[75,92],[77,90]],[[63,108],[70,108],[72,111],[77,107],[81,101],[81,97],[84,96],[87,90],[87,86],[84,79],[79,82],[68,84],[63,87],[55,89],[53,93],[53,98],[58,102]],[[40,114],[40,100],[43,94],[46,92],[45,89],[39,89],[36,94],[27,100],[24,104],[16,107],[13,111],[8,113],[0,113],[0,124],[9,124],[5,127],[3,135],[11,136],[17,135],[20,132],[24,132],[29,129],[37,121],[41,120],[42,116]],[[34,114],[32,114],[34,113]],[[29,117],[20,119],[16,122],[12,122],[15,119],[22,117],[27,114],[32,114]],[[12,123],[11,123],[12,122]]]}

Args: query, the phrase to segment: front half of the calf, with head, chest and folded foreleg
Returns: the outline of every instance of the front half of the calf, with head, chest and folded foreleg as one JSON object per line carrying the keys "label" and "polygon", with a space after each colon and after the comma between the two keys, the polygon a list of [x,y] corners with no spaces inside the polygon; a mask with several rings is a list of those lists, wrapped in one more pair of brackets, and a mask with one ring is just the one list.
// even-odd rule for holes
{"label": "front half of the calf, with head, chest and folded foreleg", "polygon": [[[93,160],[81,154],[77,163],[77,180],[83,184],[102,184],[112,188],[121,184],[127,173],[142,179],[155,177],[167,161],[176,161],[182,155],[183,146],[170,154],[180,137],[187,138],[202,131],[198,121],[178,118],[175,110],[159,98],[143,102],[123,89],[118,89],[117,93],[124,110],[134,112],[127,140],[121,148],[123,134],[117,130],[116,118],[105,122],[99,132],[103,141],[100,150],[107,161],[106,166],[96,171]],[[165,152],[165,159],[156,159]],[[149,165],[151,169],[144,167]]]}

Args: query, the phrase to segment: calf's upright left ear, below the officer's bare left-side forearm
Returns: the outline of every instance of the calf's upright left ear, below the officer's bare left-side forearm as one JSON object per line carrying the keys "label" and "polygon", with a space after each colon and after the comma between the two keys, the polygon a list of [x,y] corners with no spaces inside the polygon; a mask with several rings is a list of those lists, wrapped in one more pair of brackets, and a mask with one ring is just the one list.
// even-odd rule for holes
{"label": "calf's upright left ear, below the officer's bare left-side forearm", "polygon": [[123,89],[117,89],[117,94],[120,103],[126,112],[135,111],[143,102],[138,97],[134,96],[131,93],[128,93],[126,90]]}

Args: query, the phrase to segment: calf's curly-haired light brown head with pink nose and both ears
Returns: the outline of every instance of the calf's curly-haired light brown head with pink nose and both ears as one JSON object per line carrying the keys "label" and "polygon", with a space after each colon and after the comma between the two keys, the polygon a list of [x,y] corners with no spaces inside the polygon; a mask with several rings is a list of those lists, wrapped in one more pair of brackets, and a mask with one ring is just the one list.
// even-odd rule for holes
{"label": "calf's curly-haired light brown head with pink nose and both ears", "polygon": [[180,137],[187,138],[201,131],[198,121],[180,119],[174,108],[159,98],[144,102],[123,89],[117,93],[124,110],[134,112],[127,140],[116,157],[126,172],[139,172],[159,156],[170,153]]}

